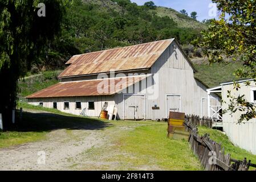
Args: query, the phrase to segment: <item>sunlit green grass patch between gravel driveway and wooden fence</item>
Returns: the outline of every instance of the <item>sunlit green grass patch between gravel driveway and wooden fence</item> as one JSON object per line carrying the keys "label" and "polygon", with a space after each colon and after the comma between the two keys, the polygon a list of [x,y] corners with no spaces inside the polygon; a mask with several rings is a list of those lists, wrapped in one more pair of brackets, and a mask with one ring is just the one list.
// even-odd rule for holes
{"label": "sunlit green grass patch between gravel driveway and wooden fence", "polygon": [[167,138],[166,127],[162,122],[137,127],[119,139],[120,148],[136,156],[133,162],[139,166],[149,163],[165,170],[202,169],[188,142]]}

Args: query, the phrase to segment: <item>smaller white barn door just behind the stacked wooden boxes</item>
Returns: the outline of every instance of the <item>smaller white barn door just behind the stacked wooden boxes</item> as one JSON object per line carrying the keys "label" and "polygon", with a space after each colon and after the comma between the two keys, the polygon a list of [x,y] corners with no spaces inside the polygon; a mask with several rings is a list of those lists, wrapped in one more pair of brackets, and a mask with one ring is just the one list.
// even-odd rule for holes
{"label": "smaller white barn door just behind the stacked wooden boxes", "polygon": [[169,111],[181,112],[181,96],[180,95],[166,95],[166,116]]}

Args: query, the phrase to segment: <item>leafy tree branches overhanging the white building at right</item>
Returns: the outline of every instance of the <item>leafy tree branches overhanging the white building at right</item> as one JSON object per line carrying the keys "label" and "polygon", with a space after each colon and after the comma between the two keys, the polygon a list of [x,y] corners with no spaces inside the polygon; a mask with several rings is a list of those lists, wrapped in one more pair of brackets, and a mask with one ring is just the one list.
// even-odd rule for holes
{"label": "leafy tree branches overhanging the white building at right", "polygon": [[[194,43],[202,47],[210,63],[241,61],[245,69],[235,72],[237,77],[253,78],[256,81],[256,1],[213,0],[221,12],[220,19],[212,20],[208,31]],[[250,85],[246,82],[246,85]],[[234,89],[240,85],[234,81]],[[256,117],[255,106],[245,96],[234,96],[229,90],[229,107],[226,111],[242,111],[239,122]]]}

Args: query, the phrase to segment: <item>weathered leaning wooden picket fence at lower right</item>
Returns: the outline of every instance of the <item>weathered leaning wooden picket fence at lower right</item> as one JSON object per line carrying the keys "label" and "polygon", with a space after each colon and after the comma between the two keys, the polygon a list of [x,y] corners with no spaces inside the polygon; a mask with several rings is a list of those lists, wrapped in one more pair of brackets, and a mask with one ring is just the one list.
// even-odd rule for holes
{"label": "weathered leaning wooden picket fence at lower right", "polygon": [[185,128],[190,132],[189,144],[193,152],[200,159],[206,171],[247,171],[249,167],[256,167],[256,164],[247,162],[246,158],[241,160],[231,159],[230,154],[225,155],[225,150],[221,144],[210,139],[209,134],[198,136],[197,126],[212,126],[198,117],[185,118]]}

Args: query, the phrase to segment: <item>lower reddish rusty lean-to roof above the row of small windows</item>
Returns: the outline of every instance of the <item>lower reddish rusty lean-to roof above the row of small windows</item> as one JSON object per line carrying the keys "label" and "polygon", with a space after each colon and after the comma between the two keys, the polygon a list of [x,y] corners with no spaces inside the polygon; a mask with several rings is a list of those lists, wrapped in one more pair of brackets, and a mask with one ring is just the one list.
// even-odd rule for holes
{"label": "lower reddish rusty lean-to roof above the row of small windows", "polygon": [[[75,96],[105,96],[112,95],[121,90],[144,80],[149,75],[104,78],[86,81],[59,82],[26,98],[46,97],[75,97]],[[104,81],[104,82],[103,82]],[[104,93],[99,92],[98,86],[105,84]],[[107,86],[106,86],[107,85]],[[99,87],[101,88],[101,87]],[[102,88],[103,89],[103,88]]]}

